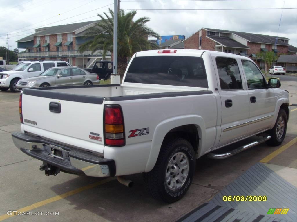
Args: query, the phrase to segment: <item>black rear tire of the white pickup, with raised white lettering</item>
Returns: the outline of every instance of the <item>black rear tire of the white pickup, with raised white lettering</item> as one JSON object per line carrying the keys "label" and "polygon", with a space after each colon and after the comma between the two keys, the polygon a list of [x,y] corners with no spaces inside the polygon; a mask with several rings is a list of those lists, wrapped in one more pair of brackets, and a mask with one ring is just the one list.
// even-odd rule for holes
{"label": "black rear tire of the white pickup, with raised white lettering", "polygon": [[[179,163],[170,162],[171,158],[174,161],[174,157],[178,158],[181,157]],[[183,170],[180,170],[181,163],[184,162],[188,163],[187,173]],[[175,168],[173,169],[170,163],[175,164]],[[182,138],[170,138],[163,142],[157,162],[154,168],[148,172],[143,173],[143,179],[146,185],[146,189],[148,192],[157,200],[163,200],[167,203],[173,203],[177,200],[180,200],[189,190],[189,187],[192,183],[194,172],[195,172],[195,153],[192,145],[185,139]],[[178,166],[176,166],[178,165]],[[168,169],[172,169],[171,172]],[[175,173],[173,173],[173,171]],[[169,173],[169,174],[168,174]],[[172,174],[171,174],[172,173]],[[168,178],[176,177],[173,174],[179,175],[179,173],[187,174],[185,175],[185,179],[183,179],[182,183],[177,184],[176,190],[170,188],[171,180],[169,182],[166,181],[166,174],[168,174]],[[179,176],[180,177],[180,176]],[[174,178],[172,178],[174,180]]]}

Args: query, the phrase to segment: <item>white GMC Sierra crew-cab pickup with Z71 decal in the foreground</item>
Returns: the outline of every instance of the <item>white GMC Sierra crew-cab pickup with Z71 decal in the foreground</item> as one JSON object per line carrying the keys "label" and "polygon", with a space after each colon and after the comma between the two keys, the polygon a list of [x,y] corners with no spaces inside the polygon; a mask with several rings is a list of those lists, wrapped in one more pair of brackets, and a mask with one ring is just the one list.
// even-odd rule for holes
{"label": "white GMC Sierra crew-cab pickup with Z71 decal in the foreground", "polygon": [[[45,174],[143,173],[156,199],[174,202],[196,159],[224,159],[266,141],[282,143],[288,92],[243,56],[205,50],[137,52],[122,84],[24,89],[13,141]],[[219,148],[255,138],[228,152]],[[249,139],[250,140],[250,139]]]}

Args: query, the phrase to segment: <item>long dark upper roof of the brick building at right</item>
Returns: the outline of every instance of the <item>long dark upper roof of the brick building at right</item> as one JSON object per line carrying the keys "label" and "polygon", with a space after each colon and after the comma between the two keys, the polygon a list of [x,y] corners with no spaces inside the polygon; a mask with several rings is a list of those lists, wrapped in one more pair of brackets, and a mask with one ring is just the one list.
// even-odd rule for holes
{"label": "long dark upper roof of the brick building at right", "polygon": [[262,34],[255,34],[255,33],[248,33],[248,32],[237,32],[237,31],[229,31],[229,30],[221,30],[221,29],[213,29],[213,28],[204,28],[207,31],[214,31],[214,32],[223,32],[223,33],[233,33],[241,38],[246,39],[249,42],[257,42],[257,43],[266,43],[266,44],[275,44],[275,39],[277,38],[277,45],[288,45],[287,43],[280,41],[279,39],[289,40],[286,37],[280,36],[268,36]]}

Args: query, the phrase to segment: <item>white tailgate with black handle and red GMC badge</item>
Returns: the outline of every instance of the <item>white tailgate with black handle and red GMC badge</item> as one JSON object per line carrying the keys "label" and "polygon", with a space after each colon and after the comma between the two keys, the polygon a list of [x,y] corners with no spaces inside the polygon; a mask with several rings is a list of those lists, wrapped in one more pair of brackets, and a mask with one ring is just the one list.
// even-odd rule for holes
{"label": "white tailgate with black handle and red GMC badge", "polygon": [[[22,96],[22,130],[102,154],[103,99],[25,89]],[[57,104],[61,107],[60,112],[53,109]]]}

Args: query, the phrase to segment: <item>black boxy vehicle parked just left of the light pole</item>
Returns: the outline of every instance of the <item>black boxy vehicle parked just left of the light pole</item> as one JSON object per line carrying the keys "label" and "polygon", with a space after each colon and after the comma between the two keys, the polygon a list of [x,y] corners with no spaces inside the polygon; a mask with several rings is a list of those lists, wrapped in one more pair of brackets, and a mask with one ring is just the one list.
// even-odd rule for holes
{"label": "black boxy vehicle parked just left of the light pole", "polygon": [[90,73],[96,73],[99,79],[109,79],[110,74],[113,73],[113,62],[111,61],[97,61],[92,68],[84,69]]}

